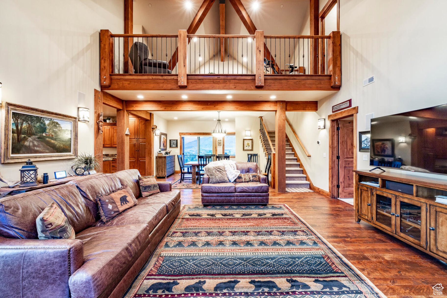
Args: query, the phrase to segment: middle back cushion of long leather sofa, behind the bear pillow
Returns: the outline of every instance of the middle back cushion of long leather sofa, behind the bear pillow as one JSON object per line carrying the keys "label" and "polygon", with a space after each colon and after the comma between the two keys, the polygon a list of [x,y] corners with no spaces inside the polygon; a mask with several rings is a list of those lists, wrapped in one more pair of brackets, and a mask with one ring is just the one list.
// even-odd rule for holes
{"label": "middle back cushion of long leather sofa, behind the bear pillow", "polygon": [[79,192],[84,197],[85,203],[95,217],[95,221],[100,218],[96,196],[102,193],[111,193],[112,191],[121,188],[121,182],[119,182],[118,176],[115,176],[114,174],[86,176],[72,180],[68,182],[68,184],[74,184],[79,189]]}

